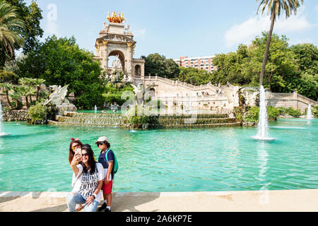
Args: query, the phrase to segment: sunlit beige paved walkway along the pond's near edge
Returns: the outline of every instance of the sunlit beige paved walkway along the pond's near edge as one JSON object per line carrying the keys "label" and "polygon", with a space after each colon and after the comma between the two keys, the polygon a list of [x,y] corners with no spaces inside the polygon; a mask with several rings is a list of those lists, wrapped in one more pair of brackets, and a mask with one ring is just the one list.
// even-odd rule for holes
{"label": "sunlit beige paved walkway along the pond's near edge", "polygon": [[[0,191],[0,211],[68,211],[66,192]],[[113,212],[318,211],[318,189],[114,193]]]}

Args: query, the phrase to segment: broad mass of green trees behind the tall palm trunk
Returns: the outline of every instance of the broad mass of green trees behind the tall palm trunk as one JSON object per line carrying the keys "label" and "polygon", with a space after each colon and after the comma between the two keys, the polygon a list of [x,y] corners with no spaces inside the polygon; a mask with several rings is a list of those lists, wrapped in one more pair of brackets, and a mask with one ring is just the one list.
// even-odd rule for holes
{"label": "broad mass of green trees behind the tall palm trunk", "polygon": [[[267,32],[255,37],[247,47],[240,44],[237,52],[216,54],[211,82],[259,86],[261,64],[266,48]],[[273,34],[267,57],[263,85],[273,93],[298,93],[317,100],[318,49],[313,44],[288,46],[288,38]]]}

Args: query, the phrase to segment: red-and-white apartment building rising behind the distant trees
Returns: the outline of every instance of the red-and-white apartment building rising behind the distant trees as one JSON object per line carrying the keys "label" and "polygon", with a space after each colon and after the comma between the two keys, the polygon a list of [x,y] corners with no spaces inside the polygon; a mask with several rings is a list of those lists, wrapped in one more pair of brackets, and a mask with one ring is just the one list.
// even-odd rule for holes
{"label": "red-and-white apartment building rising behind the distant trees", "polygon": [[206,70],[207,72],[216,71],[216,66],[213,66],[212,59],[215,56],[206,57],[179,57],[173,59],[175,63],[179,66],[185,68],[192,67],[196,69]]}

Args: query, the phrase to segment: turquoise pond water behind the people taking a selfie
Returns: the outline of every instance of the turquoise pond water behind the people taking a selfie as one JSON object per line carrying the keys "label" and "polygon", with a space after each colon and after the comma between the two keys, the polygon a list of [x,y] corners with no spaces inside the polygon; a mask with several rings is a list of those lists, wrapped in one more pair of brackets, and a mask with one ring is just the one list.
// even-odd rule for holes
{"label": "turquoise pond water behind the people taking a selfie", "polygon": [[256,128],[131,131],[4,123],[0,191],[71,191],[71,137],[93,145],[107,136],[119,171],[113,191],[318,189],[318,120],[270,123],[276,141],[254,141]]}

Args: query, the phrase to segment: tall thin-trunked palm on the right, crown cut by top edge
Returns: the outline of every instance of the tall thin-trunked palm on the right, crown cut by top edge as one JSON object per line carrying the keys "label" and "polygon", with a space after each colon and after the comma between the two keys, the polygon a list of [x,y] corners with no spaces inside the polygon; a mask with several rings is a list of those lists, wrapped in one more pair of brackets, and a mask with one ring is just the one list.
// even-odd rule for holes
{"label": "tall thin-trunked palm on the right, crown cut by top edge", "polygon": [[[257,0],[258,2],[259,0]],[[300,0],[303,4],[304,0]],[[269,46],[271,44],[271,35],[273,33],[273,25],[275,23],[276,17],[281,16],[281,12],[285,12],[286,18],[290,17],[290,14],[294,12],[296,14],[297,8],[300,6],[299,0],[261,0],[259,8],[261,8],[261,14],[264,13],[265,8],[268,8],[267,15],[271,13],[271,28],[269,29],[269,36],[266,41],[266,49],[264,53],[263,64],[261,65],[261,76],[259,78],[259,85],[263,85],[267,55],[269,54]],[[257,8],[257,13],[259,13],[259,8]]]}

